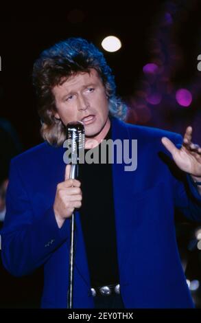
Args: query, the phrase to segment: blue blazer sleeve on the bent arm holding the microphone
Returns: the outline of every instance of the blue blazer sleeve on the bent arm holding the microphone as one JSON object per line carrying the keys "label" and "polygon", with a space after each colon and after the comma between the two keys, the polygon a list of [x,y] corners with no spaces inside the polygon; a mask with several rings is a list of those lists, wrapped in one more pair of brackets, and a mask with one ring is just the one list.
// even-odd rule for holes
{"label": "blue blazer sleeve on the bent arm holding the microphone", "polygon": [[1,230],[1,257],[5,269],[14,276],[30,274],[68,239],[69,219],[59,229],[53,205],[40,219],[33,216],[32,204],[12,159]]}

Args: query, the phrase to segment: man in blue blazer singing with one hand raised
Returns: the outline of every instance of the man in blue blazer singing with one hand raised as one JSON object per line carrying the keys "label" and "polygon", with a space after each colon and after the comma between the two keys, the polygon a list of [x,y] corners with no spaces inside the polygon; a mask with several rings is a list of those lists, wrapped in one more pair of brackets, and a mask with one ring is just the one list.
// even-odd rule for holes
{"label": "man in blue blazer singing with one hand raised", "polygon": [[[191,142],[191,127],[182,141],[121,121],[126,107],[110,68],[82,38],[45,50],[34,85],[45,143],[11,162],[5,267],[22,276],[44,265],[42,307],[66,308],[75,210],[74,308],[193,307],[174,230],[175,208],[201,220],[201,149]],[[105,138],[137,140],[137,169],[84,164],[79,179],[69,179],[62,144],[67,123],[76,120],[84,122],[86,152]]]}

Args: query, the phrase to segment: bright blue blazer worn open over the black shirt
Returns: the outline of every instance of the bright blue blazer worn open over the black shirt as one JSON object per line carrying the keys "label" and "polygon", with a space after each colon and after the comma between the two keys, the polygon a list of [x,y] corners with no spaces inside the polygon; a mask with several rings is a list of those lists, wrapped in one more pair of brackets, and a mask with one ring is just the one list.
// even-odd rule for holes
{"label": "bright blue blazer worn open over the black shirt", "polygon": [[[189,175],[175,166],[161,143],[163,136],[182,143],[176,133],[112,118],[113,140],[138,143],[136,170],[125,172],[124,164],[113,164],[117,255],[126,308],[194,307],[178,254],[174,209],[200,221],[201,197]],[[1,232],[3,265],[11,274],[27,275],[44,265],[43,308],[67,308],[70,219],[59,229],[53,210],[56,186],[64,181],[63,155],[63,147],[44,142],[12,159]],[[93,308],[79,212],[75,221],[73,307]]]}

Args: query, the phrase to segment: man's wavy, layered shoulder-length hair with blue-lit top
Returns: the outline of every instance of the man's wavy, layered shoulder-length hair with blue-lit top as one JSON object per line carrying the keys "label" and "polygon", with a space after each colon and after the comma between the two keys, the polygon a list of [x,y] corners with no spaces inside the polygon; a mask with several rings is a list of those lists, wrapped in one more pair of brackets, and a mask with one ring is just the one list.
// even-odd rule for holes
{"label": "man's wavy, layered shoulder-length hair with blue-lit top", "polygon": [[40,134],[51,145],[61,146],[66,139],[65,126],[55,118],[53,87],[62,85],[69,76],[95,69],[108,97],[110,114],[124,120],[127,107],[116,96],[115,79],[102,52],[83,38],[68,38],[46,49],[34,63],[33,83],[41,120]]}

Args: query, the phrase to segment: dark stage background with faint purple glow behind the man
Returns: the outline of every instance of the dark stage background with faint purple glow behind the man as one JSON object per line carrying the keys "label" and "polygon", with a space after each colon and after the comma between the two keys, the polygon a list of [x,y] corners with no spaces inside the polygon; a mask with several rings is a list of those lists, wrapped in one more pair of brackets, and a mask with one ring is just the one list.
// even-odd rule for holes
{"label": "dark stage background with faint purple glow behind the man", "polygon": [[[49,2],[44,9],[38,4],[10,3],[8,7],[2,8],[0,23],[0,118],[14,126],[22,151],[42,142],[32,88],[32,66],[40,52],[69,36],[86,38],[102,49],[103,38],[110,34],[122,43],[119,52],[104,54],[115,74],[117,93],[128,103],[127,121],[181,134],[192,125],[193,141],[201,144],[201,71],[197,69],[201,1]],[[155,82],[143,74],[143,66],[151,62],[163,67]],[[176,102],[180,88],[192,93],[189,107]],[[156,90],[161,102],[149,104],[147,93]],[[185,274],[190,280],[201,280],[194,234],[198,225],[176,214],[180,254],[187,261]],[[12,278],[1,271],[1,308],[39,307],[42,269],[27,278]],[[200,289],[193,297],[200,307]]]}

